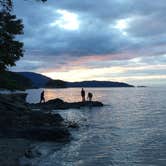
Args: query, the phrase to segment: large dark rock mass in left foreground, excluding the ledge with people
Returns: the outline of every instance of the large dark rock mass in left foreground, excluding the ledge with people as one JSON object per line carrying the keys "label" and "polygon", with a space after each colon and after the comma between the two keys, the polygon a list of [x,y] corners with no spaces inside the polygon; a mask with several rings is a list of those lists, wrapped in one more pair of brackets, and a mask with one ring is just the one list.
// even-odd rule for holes
{"label": "large dark rock mass in left foreground, excluding the ledge with people", "polygon": [[26,94],[0,95],[0,137],[70,140],[70,133],[59,114],[32,111],[25,98]]}

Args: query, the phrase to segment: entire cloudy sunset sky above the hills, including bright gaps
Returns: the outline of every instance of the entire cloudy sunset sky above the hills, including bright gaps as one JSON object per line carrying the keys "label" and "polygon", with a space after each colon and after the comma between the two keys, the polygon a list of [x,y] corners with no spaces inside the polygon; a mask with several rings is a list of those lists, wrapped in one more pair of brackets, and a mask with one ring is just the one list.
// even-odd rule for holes
{"label": "entire cloudy sunset sky above the hills, including bright gaps", "polygon": [[165,0],[14,0],[25,52],[12,70],[166,85],[165,11]]}

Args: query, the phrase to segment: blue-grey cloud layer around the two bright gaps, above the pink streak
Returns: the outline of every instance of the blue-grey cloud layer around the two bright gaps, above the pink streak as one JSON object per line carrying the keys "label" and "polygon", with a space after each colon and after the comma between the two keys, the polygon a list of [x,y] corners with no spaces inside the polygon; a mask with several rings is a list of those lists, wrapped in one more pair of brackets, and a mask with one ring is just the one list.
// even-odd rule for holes
{"label": "blue-grey cloud layer around the two bright gaps, above the pink streak", "polygon": [[[23,40],[27,51],[38,48],[50,55],[111,54],[129,47],[146,47],[150,40],[147,38],[154,35],[160,42],[160,35],[165,33],[164,4],[163,0],[48,0],[44,4],[17,0],[15,12],[25,24]],[[49,27],[58,19],[58,9],[78,14],[80,29]],[[113,28],[119,19],[131,19],[126,30],[129,36]]]}

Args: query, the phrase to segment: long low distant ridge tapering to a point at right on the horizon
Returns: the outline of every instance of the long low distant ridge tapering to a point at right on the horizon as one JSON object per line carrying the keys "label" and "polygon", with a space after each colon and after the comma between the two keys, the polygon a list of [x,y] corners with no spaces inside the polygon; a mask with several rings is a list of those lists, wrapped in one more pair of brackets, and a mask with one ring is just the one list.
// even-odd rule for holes
{"label": "long low distant ridge tapering to a point at right on the horizon", "polygon": [[127,83],[112,81],[66,82],[66,84],[67,87],[134,87]]}

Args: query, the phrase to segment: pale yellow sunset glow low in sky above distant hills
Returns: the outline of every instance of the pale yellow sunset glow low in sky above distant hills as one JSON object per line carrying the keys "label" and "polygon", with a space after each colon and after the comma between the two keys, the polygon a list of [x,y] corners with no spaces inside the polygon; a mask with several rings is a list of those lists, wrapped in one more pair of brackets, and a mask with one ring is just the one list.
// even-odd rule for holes
{"label": "pale yellow sunset glow low in sky above distant hills", "polygon": [[[166,71],[166,65],[157,65],[158,71]],[[83,81],[83,80],[100,80],[100,81],[125,81],[125,82],[137,82],[150,80],[166,80],[166,75],[160,75],[154,73],[153,75],[143,74],[145,71],[150,71],[155,68],[154,65],[140,66],[140,67],[105,67],[105,68],[93,68],[93,69],[75,69],[69,71],[50,71],[42,74],[52,79],[62,79],[65,81]],[[63,70],[63,69],[62,69]],[[140,73],[131,75],[130,73]]]}

